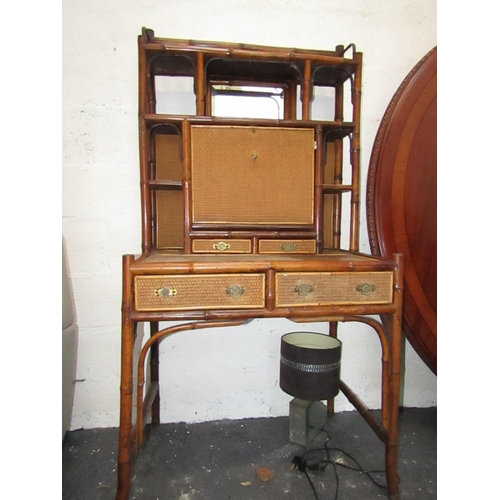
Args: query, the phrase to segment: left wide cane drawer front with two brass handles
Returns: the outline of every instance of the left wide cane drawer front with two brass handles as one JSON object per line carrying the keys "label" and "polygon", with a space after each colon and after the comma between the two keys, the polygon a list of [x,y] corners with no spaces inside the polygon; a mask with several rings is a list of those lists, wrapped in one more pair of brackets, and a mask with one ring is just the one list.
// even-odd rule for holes
{"label": "left wide cane drawer front with two brass handles", "polygon": [[137,311],[264,307],[264,274],[136,276]]}

